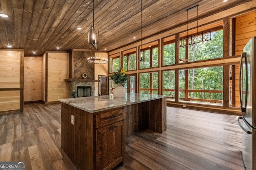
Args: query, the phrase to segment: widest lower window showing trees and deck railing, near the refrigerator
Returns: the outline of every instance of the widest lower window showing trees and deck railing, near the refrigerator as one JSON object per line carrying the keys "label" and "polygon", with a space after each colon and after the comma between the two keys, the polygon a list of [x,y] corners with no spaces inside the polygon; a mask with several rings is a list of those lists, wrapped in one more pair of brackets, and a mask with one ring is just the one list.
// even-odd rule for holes
{"label": "widest lower window showing trees and deck railing, near the refrigerator", "polygon": [[222,105],[223,67],[180,70],[179,88],[180,101]]}

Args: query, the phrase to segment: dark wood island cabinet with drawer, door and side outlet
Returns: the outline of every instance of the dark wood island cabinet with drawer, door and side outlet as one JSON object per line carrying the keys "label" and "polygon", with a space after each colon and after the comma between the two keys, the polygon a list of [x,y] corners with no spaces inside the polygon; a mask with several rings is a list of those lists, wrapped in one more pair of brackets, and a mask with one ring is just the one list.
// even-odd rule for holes
{"label": "dark wood island cabinet with drawer, door and side outlet", "polygon": [[124,162],[125,111],[88,113],[62,103],[61,147],[78,170],[111,170]]}

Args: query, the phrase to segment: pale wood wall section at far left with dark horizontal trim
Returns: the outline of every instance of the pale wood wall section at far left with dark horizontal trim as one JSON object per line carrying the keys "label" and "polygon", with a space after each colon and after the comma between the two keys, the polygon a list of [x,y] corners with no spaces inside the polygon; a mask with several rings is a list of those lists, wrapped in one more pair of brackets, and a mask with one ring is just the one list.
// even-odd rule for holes
{"label": "pale wood wall section at far left with dark horizontal trim", "polygon": [[23,111],[24,51],[0,51],[0,114]]}

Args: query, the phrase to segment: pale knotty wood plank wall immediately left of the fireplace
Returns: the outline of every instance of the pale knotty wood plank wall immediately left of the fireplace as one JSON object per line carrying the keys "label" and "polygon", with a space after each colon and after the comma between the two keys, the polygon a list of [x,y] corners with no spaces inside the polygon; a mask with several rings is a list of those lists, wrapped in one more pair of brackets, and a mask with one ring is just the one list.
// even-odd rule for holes
{"label": "pale knotty wood plank wall immediately left of the fireplace", "polygon": [[68,98],[69,53],[47,53],[47,101],[56,102]]}

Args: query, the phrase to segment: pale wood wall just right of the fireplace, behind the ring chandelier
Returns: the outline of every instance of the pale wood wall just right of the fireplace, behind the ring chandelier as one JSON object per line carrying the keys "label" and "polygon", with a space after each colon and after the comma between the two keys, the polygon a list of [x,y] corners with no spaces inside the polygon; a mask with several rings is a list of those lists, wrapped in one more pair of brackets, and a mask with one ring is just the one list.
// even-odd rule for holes
{"label": "pale wood wall just right of the fireplace, behind the ring chandelier", "polygon": [[[108,53],[101,53],[103,57],[108,59]],[[94,79],[98,80],[99,76],[108,76],[108,64],[94,64]],[[99,82],[95,82],[94,96],[99,94]]]}

